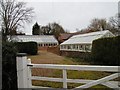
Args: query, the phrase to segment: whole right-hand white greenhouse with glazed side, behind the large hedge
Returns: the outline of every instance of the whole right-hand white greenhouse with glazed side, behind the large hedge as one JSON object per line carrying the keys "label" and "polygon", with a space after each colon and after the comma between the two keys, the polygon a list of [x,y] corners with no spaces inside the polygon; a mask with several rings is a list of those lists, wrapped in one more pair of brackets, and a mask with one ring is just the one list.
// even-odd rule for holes
{"label": "whole right-hand white greenhouse with glazed side, behind the large hedge", "polygon": [[60,44],[60,50],[91,52],[93,40],[113,36],[109,30],[74,35]]}

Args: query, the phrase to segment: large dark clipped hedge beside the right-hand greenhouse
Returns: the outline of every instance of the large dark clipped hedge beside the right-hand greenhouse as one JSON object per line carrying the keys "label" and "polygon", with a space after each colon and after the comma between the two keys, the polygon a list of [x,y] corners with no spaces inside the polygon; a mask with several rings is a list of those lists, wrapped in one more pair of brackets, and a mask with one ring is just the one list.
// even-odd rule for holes
{"label": "large dark clipped hedge beside the right-hand greenhouse", "polygon": [[92,61],[99,65],[119,65],[120,36],[93,41]]}

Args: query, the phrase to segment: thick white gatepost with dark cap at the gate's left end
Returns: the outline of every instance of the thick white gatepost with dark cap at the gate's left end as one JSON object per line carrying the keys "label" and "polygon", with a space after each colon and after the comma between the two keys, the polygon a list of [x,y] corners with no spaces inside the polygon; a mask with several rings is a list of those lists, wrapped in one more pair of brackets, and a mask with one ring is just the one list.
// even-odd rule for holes
{"label": "thick white gatepost with dark cap at the gate's left end", "polygon": [[18,53],[16,60],[18,88],[28,88],[26,53]]}

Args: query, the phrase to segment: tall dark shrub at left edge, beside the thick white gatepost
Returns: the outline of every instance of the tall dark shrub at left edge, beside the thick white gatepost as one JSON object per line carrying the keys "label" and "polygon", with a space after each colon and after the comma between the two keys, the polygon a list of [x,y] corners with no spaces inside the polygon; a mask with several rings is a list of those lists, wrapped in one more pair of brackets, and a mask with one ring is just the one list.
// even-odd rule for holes
{"label": "tall dark shrub at left edge, beside the thick white gatepost", "polygon": [[17,90],[16,51],[13,43],[2,43],[2,90]]}

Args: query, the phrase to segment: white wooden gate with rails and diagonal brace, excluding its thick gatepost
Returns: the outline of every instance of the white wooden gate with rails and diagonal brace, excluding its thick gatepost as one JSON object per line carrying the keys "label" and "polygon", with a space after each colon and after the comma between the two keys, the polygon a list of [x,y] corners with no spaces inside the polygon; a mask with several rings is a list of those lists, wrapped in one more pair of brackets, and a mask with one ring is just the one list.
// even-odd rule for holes
{"label": "white wooden gate with rails and diagonal brace, excluding its thick gatepost", "polygon": [[[63,78],[51,78],[51,77],[38,77],[32,76],[32,80],[43,80],[43,81],[53,81],[53,82],[63,82],[63,88],[67,88],[67,83],[87,83],[84,86],[76,87],[78,88],[89,88],[97,84],[102,84],[110,88],[119,88],[118,81],[109,81],[118,77],[118,73],[114,75],[107,76],[99,80],[84,80],[84,79],[67,79],[66,70],[84,70],[84,71],[106,71],[106,72],[118,72],[118,66],[91,66],[91,65],[56,65],[56,64],[28,64],[31,68],[47,68],[47,69],[60,69],[63,71]],[[74,89],[75,90],[75,89]]]}

